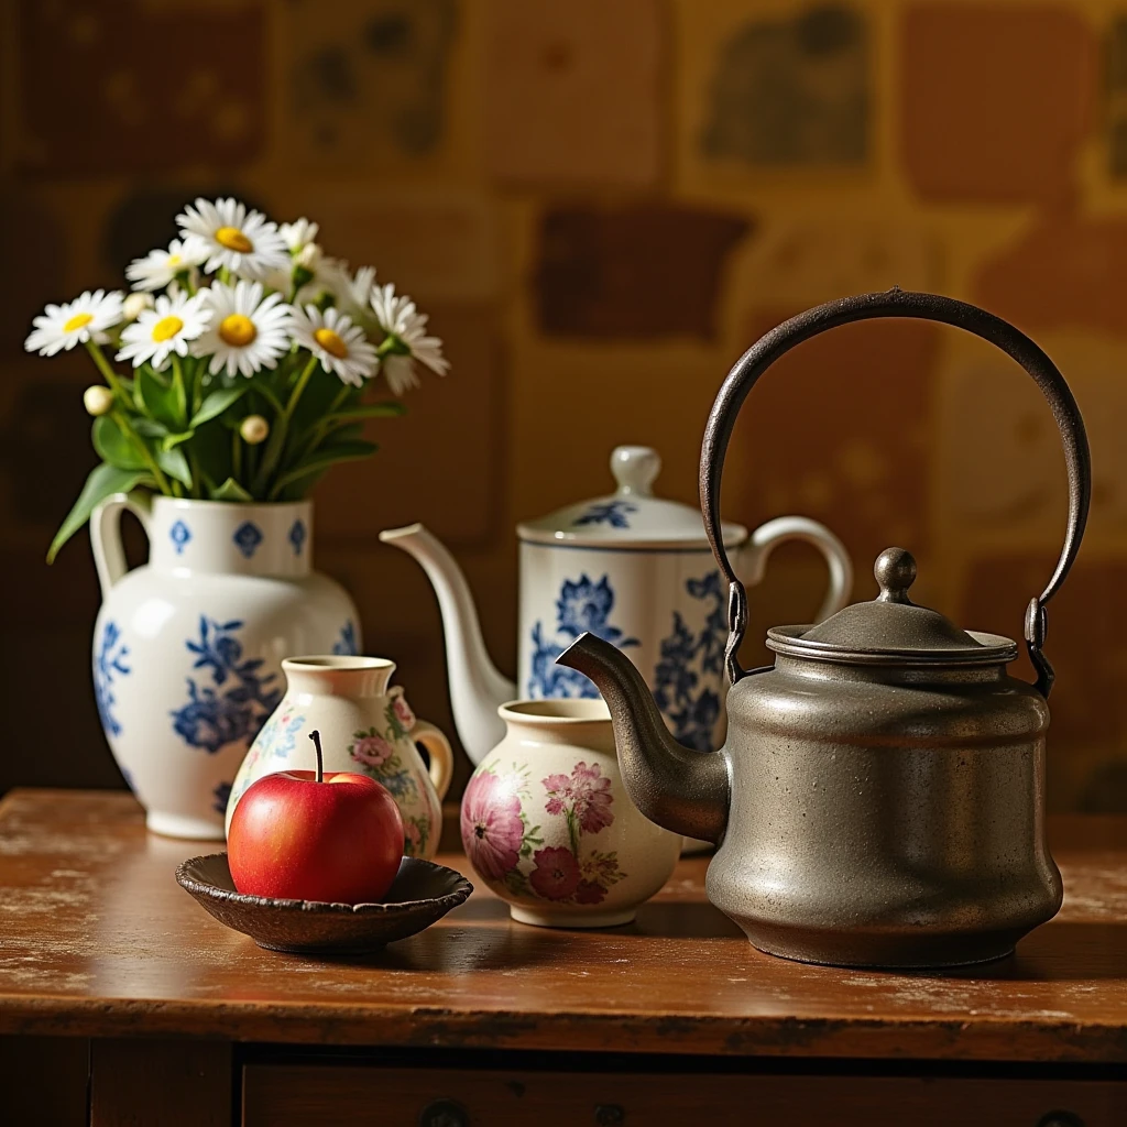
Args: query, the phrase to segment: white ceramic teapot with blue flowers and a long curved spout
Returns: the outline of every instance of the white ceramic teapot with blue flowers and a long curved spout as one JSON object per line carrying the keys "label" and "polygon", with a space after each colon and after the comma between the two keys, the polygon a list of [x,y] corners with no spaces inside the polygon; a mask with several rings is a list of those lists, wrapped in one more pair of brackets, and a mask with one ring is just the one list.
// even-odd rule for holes
{"label": "white ceramic teapot with blue flowers and a long curved spout", "polygon": [[[518,678],[494,667],[469,586],[450,552],[421,524],[380,533],[414,556],[438,596],[454,724],[477,765],[502,742],[497,708],[525,696],[597,696],[583,674],[556,658],[589,631],[630,655],[678,740],[700,751],[722,742],[727,584],[712,558],[700,511],[655,497],[662,469],[648,446],[616,446],[618,489],[517,526],[521,540]],[[781,516],[753,533],[724,525],[745,585],[760,582],[784,540],[805,540],[829,567],[818,619],[849,600],[853,569],[842,542],[804,516]]]}

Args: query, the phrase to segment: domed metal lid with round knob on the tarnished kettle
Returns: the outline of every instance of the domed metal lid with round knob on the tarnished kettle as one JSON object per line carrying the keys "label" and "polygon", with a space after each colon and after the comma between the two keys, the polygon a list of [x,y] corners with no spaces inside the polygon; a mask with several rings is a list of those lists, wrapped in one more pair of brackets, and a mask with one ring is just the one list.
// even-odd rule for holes
{"label": "domed metal lid with round knob on the tarnished kettle", "polygon": [[767,646],[778,654],[851,665],[977,665],[1011,662],[1018,646],[1001,635],[960,630],[939,611],[908,598],[916,577],[911,552],[886,548],[872,574],[880,594],[853,603],[815,627],[775,627]]}

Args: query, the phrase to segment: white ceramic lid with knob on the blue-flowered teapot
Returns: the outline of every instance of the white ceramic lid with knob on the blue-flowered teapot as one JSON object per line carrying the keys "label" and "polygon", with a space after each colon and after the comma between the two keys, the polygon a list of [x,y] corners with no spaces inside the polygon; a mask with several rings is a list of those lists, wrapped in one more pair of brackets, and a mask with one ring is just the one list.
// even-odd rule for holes
{"label": "white ceramic lid with knob on the blue-flowered teapot", "polygon": [[[521,540],[541,544],[571,544],[576,548],[667,548],[707,549],[708,536],[699,508],[678,500],[655,497],[654,480],[662,472],[662,459],[649,446],[615,446],[611,473],[618,489],[606,497],[565,505],[535,521],[516,526]],[[747,539],[740,524],[724,525],[726,547],[736,548]]]}

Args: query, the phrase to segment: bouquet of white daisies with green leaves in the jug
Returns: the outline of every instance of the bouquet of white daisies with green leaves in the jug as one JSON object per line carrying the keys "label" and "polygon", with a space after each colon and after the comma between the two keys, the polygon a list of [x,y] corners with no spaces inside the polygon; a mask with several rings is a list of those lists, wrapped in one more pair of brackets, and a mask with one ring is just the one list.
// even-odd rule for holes
{"label": "bouquet of white daisies with green leaves in the jug", "polygon": [[375,452],[366,419],[403,414],[370,398],[379,378],[399,396],[416,361],[446,372],[426,316],[372,267],[327,256],[316,223],[279,227],[234,199],[197,199],[176,222],[179,239],[127,268],[132,293],[47,305],[25,344],[82,345],[105,380],[83,397],[101,464],[48,560],[115,492],[299,499],[334,463]]}

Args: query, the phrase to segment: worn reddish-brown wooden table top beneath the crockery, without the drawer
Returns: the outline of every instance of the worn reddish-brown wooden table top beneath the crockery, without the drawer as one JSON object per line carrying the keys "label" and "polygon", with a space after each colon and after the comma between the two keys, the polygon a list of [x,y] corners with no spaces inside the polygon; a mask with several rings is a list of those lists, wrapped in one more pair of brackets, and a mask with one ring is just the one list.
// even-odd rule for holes
{"label": "worn reddish-brown wooden table top beneath the crockery, without the drawer", "polygon": [[[636,924],[513,923],[478,882],[361,958],[257,948],[176,884],[214,843],[148,834],[123,793],[0,802],[0,1032],[330,1045],[1127,1062],[1127,817],[1051,824],[1065,903],[1001,962],[955,974],[761,955],[680,863]],[[460,855],[440,860],[472,878]]]}

